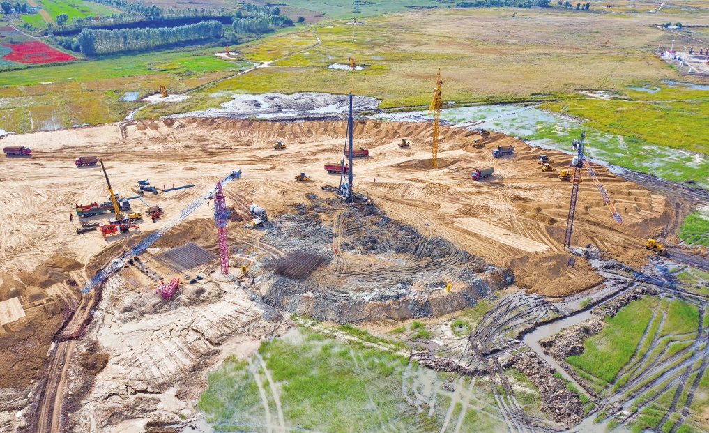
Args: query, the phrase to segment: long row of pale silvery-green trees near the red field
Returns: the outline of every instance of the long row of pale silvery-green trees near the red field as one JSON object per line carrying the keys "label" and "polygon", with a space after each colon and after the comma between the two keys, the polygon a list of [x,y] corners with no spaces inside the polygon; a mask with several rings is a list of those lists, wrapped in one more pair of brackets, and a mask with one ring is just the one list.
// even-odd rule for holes
{"label": "long row of pale silvery-green trees near the red field", "polygon": [[219,21],[202,21],[179,27],[123,28],[102,30],[84,28],[74,41],[69,38],[59,40],[59,44],[69,50],[81,51],[85,55],[105,55],[116,52],[150,50],[165,45],[197,40],[216,40],[223,34]]}

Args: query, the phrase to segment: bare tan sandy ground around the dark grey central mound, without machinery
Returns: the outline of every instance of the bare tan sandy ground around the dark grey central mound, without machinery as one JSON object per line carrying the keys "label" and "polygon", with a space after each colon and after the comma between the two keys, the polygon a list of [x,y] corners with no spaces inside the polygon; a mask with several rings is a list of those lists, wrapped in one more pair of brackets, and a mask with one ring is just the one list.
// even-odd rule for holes
{"label": "bare tan sandy ground around the dark grey central mound, without machinery", "polygon": [[[306,202],[310,193],[332,196],[320,187],[336,186],[340,176],[327,174],[323,166],[342,157],[345,126],[343,121],[276,123],[186,117],[4,137],[4,146],[32,147],[33,156],[0,158],[0,219],[4,222],[0,225],[0,297],[23,296],[25,308],[35,308],[32,311],[36,313],[28,315],[28,329],[36,331],[0,339],[13,354],[12,359],[0,357],[3,365],[8,369],[27,366],[30,373],[22,376],[22,386],[30,386],[31,379],[41,376],[48,333],[59,326],[57,305],[77,305],[77,291],[86,276],[147,232],[162,227],[165,220],[231,170],[240,168],[243,174],[225,188],[229,207],[257,203],[272,218],[278,218],[294,212],[294,205]],[[444,126],[439,168],[430,169],[431,135],[432,124],[427,122],[355,123],[355,145],[369,148],[370,154],[354,162],[355,190],[369,193],[375,206],[389,218],[415,227],[429,239],[443,237],[485,262],[511,268],[517,285],[527,291],[557,296],[598,285],[601,277],[593,273],[585,259],[579,258],[574,269],[566,266],[569,253],[562,247],[562,240],[571,185],[560,181],[554,172],[540,171],[537,157],[542,150],[502,134],[481,137],[471,130]],[[411,147],[398,147],[401,138],[411,142]],[[273,150],[277,140],[284,142],[286,149]],[[472,147],[474,140],[482,140],[485,148]],[[515,154],[491,157],[491,150],[498,145],[514,145]],[[569,155],[548,150],[544,153],[556,159],[556,167],[569,164]],[[80,155],[101,157],[114,191],[123,197],[136,195],[138,179],[149,179],[159,189],[173,184],[196,186],[157,196],[146,193],[145,201],[160,205],[164,218],[157,223],[144,220],[140,232],[109,235],[105,240],[99,232],[77,235],[75,205],[107,199],[100,168],[74,167],[74,158]],[[471,171],[481,167],[494,167],[495,173],[482,181],[470,179]],[[676,215],[667,209],[666,198],[624,181],[603,167],[594,169],[624,224],[615,223],[593,182],[584,174],[572,244],[592,242],[610,256],[627,256],[642,249],[644,238],[674,223]],[[300,171],[310,174],[313,181],[294,181]],[[133,210],[145,211],[140,201],[132,203]],[[72,213],[73,222],[69,221]],[[106,220],[108,215],[89,220]],[[211,207],[198,208],[189,216],[188,224],[175,227],[148,249],[148,266],[164,279],[184,277],[187,270],[161,268],[157,262],[151,263],[150,257],[190,241],[215,251],[212,220]],[[286,254],[263,244],[264,232],[240,225],[230,223],[228,227],[232,246],[247,245],[250,250],[274,257]],[[349,252],[338,254],[359,265],[367,260],[376,264],[377,260]],[[233,262],[248,264],[247,259],[234,256]],[[187,403],[196,398],[192,391],[201,388],[176,390],[174,381],[166,378],[199,376],[230,353],[225,349],[228,344],[241,344],[231,353],[245,356],[260,338],[284,329],[270,313],[270,320],[264,320],[264,310],[251,310],[247,293],[230,290],[229,283],[217,278],[218,272],[201,272],[207,276],[201,283],[205,291],[185,285],[181,300],[174,305],[156,302],[152,293],[155,274],[123,269],[108,281],[86,334],[86,341],[95,340],[98,350],[110,355],[108,364],[96,376],[95,386],[94,376],[86,378],[89,370],[72,368],[62,373],[62,383],[68,384],[72,395],[98,402],[86,405],[72,422],[89,430],[108,424],[118,426],[143,417],[143,406],[168,416],[161,407],[177,393],[183,403],[169,415],[169,420],[174,420],[176,412],[189,413]],[[431,273],[433,278],[435,271]],[[254,284],[252,279],[250,286]],[[255,327],[252,334],[243,334],[240,330],[248,325]],[[37,352],[33,364],[22,364],[29,362],[25,359],[18,361],[23,358],[26,342]],[[227,346],[217,348],[216,344]],[[75,356],[85,353],[86,348],[79,348]],[[128,377],[135,381],[114,395],[111,390]],[[138,393],[138,397],[118,404],[131,393]],[[141,395],[153,400],[140,400]],[[71,400],[66,404],[72,407]]]}

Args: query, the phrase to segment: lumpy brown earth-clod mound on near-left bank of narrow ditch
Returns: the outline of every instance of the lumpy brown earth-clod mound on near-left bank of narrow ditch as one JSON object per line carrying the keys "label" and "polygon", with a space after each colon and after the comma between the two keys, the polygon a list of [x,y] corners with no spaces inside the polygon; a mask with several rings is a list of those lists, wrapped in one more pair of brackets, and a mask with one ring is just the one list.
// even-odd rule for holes
{"label": "lumpy brown earth-clod mound on near-left bank of narrow ditch", "polygon": [[554,376],[554,369],[536,354],[525,352],[513,358],[514,368],[523,373],[539,390],[540,410],[555,422],[578,424],[584,415],[579,395],[566,389],[564,382]]}

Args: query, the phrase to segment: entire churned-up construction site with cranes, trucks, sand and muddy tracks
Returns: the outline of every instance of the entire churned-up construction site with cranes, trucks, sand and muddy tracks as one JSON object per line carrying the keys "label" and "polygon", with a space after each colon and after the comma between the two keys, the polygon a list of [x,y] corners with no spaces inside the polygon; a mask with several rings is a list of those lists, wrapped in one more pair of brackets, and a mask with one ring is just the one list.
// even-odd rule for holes
{"label": "entire churned-up construction site with cranes, trucks, sand and muddy tracks", "polygon": [[[709,425],[690,410],[705,398],[709,293],[697,275],[709,259],[677,237],[706,191],[617,176],[585,157],[584,135],[559,152],[438,116],[332,117],[5,136],[0,430],[207,431],[195,407],[206,373],[302,317],[373,335],[423,320],[432,335],[397,350],[455,375],[404,395],[437,419],[437,393],[459,388],[436,431],[482,431],[461,427],[474,378],[491,393],[479,400],[494,420],[485,431],[622,428],[667,392],[657,430]],[[692,270],[694,283],[678,276]],[[607,383],[579,373],[569,356],[644,297],[658,304],[620,371]],[[698,317],[660,332],[654,317],[676,299]],[[491,308],[457,333],[453,320],[478,304]],[[534,408],[510,369],[533,384]],[[266,405],[265,422],[239,431],[290,429],[276,401],[278,417]]]}

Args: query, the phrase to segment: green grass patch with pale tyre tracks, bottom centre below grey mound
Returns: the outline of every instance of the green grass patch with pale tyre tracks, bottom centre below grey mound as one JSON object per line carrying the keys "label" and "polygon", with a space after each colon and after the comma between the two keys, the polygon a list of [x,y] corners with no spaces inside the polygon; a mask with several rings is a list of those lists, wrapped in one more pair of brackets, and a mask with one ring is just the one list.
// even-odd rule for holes
{"label": "green grass patch with pale tyre tracks, bottom centre below grey mound", "polygon": [[[228,359],[210,373],[197,407],[216,432],[278,429],[279,417],[286,429],[438,432],[449,410],[451,422],[462,418],[461,432],[502,427],[498,415],[490,416],[498,413],[492,396],[480,387],[457,384],[471,393],[461,400],[461,393],[440,390],[445,374],[359,341],[345,344],[301,328],[264,342],[246,361]],[[423,402],[415,403],[414,390],[435,398],[435,408],[424,403],[425,411],[417,410]]]}

